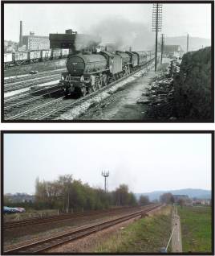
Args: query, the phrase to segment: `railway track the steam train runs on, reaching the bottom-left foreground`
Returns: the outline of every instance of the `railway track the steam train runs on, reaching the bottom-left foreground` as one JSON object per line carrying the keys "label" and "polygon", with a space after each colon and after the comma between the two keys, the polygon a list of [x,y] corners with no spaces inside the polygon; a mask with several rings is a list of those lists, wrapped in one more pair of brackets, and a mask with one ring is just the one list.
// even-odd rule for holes
{"label": "railway track the steam train runs on, reaching the bottom-left foreground", "polygon": [[[145,66],[147,66],[146,64]],[[142,67],[143,68],[143,67]],[[47,103],[44,103],[42,105],[38,105],[34,108],[27,109],[26,111],[23,111],[22,113],[15,114],[14,116],[10,116],[9,118],[6,118],[6,120],[49,120],[53,119],[60,114],[65,113],[68,109],[75,108],[79,105],[82,105],[84,101],[89,100],[91,97],[95,97],[99,93],[110,89],[113,85],[116,85],[120,81],[124,81],[129,76],[134,75],[136,72],[139,72],[140,69],[131,72],[127,76],[124,76],[117,81],[112,82],[111,84],[96,90],[95,92],[91,94],[87,94],[85,97],[81,97],[78,100],[73,99],[65,99],[64,97],[58,97],[57,99],[53,101],[49,101]]]}

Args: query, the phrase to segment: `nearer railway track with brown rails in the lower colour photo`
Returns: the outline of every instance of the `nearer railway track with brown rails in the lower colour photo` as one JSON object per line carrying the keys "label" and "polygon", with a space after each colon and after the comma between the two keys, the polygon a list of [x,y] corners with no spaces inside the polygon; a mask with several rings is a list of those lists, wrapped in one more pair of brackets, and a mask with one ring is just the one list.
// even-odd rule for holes
{"label": "nearer railway track with brown rails in the lower colour photo", "polygon": [[116,217],[112,219],[111,221],[100,221],[99,223],[96,223],[94,225],[88,225],[87,227],[80,227],[79,229],[75,229],[71,232],[64,233],[63,235],[51,237],[44,239],[39,242],[33,242],[26,246],[19,246],[12,250],[6,250],[5,254],[37,254],[42,253],[46,250],[50,250],[55,246],[61,246],[64,243],[67,242],[73,242],[81,237],[86,237],[90,235],[91,233],[96,233],[102,229],[107,229],[113,225],[122,223],[124,221],[128,221],[129,219],[140,217],[144,213],[148,213],[152,211],[153,209],[156,209],[160,207],[160,204],[153,205],[149,207],[148,209],[142,209],[139,211],[136,211],[135,213],[129,213],[122,217]]}

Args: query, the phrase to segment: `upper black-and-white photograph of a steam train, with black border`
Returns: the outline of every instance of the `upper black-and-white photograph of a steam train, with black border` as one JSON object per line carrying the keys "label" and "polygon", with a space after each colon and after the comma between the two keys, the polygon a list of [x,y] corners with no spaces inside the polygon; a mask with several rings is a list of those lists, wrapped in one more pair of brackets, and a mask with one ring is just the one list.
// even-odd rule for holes
{"label": "upper black-and-white photograph of a steam train, with black border", "polygon": [[1,4],[3,122],[213,122],[213,1]]}

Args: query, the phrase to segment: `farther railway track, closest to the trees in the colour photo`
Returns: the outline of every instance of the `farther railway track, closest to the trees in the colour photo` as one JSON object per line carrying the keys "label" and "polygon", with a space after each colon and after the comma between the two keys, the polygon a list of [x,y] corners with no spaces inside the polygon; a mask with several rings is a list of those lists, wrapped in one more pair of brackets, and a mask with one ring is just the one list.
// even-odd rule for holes
{"label": "farther railway track, closest to the trees in the colour photo", "polygon": [[45,224],[48,222],[53,222],[53,221],[64,221],[67,219],[75,219],[79,217],[90,217],[91,215],[99,215],[103,213],[121,213],[124,212],[125,210],[129,211],[130,209],[133,209],[132,207],[128,208],[119,208],[119,209],[108,209],[108,210],[96,210],[96,211],[89,211],[85,213],[63,213],[60,215],[55,215],[55,216],[50,216],[50,217],[35,217],[35,218],[30,218],[22,221],[10,221],[10,222],[5,222],[3,225],[4,230],[6,229],[17,229],[22,226],[26,225],[39,225],[39,224]]}

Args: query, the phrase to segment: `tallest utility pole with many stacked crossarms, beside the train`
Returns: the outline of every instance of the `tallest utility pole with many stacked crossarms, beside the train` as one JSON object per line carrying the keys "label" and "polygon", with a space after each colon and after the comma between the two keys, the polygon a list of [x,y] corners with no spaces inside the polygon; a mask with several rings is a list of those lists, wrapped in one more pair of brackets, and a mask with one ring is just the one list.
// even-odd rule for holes
{"label": "tallest utility pole with many stacked crossarms, beside the train", "polygon": [[152,31],[156,32],[155,71],[156,71],[156,63],[157,63],[157,35],[158,35],[158,32],[161,31],[161,27],[162,27],[162,4],[161,3],[153,3],[153,7],[152,7]]}

